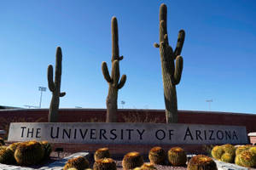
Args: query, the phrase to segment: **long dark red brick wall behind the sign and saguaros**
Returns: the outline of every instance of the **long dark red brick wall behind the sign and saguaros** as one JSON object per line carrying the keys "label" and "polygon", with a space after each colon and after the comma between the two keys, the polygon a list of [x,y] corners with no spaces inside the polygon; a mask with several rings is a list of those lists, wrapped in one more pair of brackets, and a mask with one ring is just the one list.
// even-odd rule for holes
{"label": "long dark red brick wall behind the sign and saguaros", "polygon": [[[105,109],[61,109],[60,122],[104,122]],[[0,129],[9,122],[47,122],[47,109],[0,110]],[[165,123],[164,110],[119,110],[119,122]],[[179,123],[241,125],[256,132],[256,114],[214,111],[178,111]]]}

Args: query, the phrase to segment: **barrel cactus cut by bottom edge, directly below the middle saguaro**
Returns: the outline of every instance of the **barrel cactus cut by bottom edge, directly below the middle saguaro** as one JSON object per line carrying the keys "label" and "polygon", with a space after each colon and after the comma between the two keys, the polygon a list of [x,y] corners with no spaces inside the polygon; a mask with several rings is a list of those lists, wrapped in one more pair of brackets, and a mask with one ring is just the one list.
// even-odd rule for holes
{"label": "barrel cactus cut by bottom edge, directly below the middle saguaro", "polygon": [[116,164],[111,158],[99,159],[94,162],[93,170],[116,170]]}

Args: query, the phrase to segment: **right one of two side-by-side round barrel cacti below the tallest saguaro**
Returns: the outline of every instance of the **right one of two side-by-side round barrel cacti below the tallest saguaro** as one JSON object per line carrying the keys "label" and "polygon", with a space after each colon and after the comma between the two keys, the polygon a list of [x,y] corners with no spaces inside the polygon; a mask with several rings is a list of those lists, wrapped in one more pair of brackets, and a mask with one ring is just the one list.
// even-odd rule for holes
{"label": "right one of two side-by-side round barrel cacti below the tallest saguaro", "polygon": [[186,164],[187,155],[185,150],[180,147],[173,147],[168,150],[168,161],[172,166],[183,166]]}

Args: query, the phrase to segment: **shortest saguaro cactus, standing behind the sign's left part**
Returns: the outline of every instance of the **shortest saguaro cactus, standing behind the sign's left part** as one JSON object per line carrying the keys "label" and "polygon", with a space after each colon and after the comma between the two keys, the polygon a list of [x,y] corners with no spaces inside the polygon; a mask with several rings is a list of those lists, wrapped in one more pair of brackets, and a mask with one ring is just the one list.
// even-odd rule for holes
{"label": "shortest saguaro cactus, standing behind the sign's left part", "polygon": [[53,67],[48,66],[48,87],[52,92],[52,98],[49,105],[48,122],[58,122],[58,110],[60,105],[60,97],[63,97],[66,93],[61,93],[61,48],[56,50],[55,61],[55,82],[53,81]]}

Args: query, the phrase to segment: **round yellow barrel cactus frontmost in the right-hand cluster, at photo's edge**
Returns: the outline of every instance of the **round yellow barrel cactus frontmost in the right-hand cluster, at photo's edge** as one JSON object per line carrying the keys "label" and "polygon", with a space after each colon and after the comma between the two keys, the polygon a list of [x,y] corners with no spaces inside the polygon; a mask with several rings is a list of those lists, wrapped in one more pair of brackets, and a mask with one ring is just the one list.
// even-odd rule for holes
{"label": "round yellow barrel cactus frontmost in the right-hand cluster, at photo's edge", "polygon": [[236,165],[242,167],[255,167],[256,166],[256,154],[249,150],[244,150],[235,159]]}

